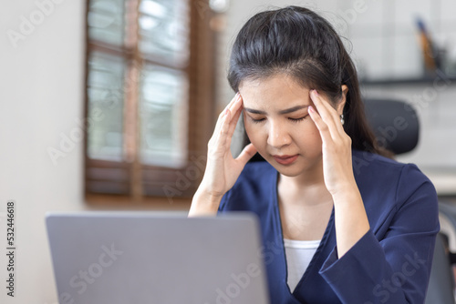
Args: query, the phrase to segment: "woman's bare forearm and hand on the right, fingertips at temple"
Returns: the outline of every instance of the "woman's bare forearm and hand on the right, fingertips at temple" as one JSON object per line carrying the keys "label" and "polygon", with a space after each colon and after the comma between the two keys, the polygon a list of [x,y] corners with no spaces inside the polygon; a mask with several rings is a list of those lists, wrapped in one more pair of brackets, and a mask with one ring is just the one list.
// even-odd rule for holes
{"label": "woman's bare forearm and hand on the right, fingertips at temple", "polygon": [[341,258],[368,232],[368,215],[353,174],[351,138],[328,100],[316,90],[310,97],[318,111],[308,108],[322,139],[323,175],[334,201],[337,256]]}

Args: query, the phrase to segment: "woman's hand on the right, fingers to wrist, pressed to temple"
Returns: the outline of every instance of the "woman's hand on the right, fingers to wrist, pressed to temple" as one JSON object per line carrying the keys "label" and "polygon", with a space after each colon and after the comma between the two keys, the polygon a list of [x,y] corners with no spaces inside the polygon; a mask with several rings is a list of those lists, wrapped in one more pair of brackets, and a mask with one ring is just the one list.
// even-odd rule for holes
{"label": "woman's hand on the right, fingers to wrist, pressed to temple", "polygon": [[334,197],[353,187],[358,189],[353,175],[351,138],[342,126],[337,110],[316,90],[310,91],[310,97],[316,109],[309,106],[308,112],[323,142],[323,174],[327,190]]}

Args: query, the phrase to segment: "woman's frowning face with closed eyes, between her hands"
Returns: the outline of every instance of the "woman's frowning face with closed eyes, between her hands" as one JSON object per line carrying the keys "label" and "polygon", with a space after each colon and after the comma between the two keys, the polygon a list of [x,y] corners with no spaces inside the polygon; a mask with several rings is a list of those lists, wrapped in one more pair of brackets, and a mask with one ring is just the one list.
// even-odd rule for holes
{"label": "woman's frowning face with closed eyes, between her hands", "polygon": [[[307,107],[310,91],[291,76],[244,80],[244,126],[260,155],[287,177],[321,168],[322,141]],[[315,106],[314,106],[315,108]]]}

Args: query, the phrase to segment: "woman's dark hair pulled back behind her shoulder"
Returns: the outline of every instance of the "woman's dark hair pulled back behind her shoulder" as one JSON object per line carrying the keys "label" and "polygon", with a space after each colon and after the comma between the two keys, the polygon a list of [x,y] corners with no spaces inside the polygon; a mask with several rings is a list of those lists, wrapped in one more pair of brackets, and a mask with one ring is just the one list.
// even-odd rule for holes
{"label": "woman's dark hair pulled back behind her shoulder", "polygon": [[326,19],[299,6],[254,15],[233,44],[228,81],[234,92],[243,80],[283,73],[309,89],[325,92],[334,103],[348,87],[344,129],[358,150],[390,156],[378,147],[368,126],[358,75],[339,35]]}

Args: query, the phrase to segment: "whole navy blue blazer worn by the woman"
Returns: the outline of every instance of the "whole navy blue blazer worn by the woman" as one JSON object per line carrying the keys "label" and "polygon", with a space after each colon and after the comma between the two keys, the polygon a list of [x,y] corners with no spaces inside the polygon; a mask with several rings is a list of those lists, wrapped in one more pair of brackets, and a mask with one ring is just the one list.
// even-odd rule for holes
{"label": "whole navy blue blazer worn by the woman", "polygon": [[423,303],[439,209],[435,188],[418,167],[353,150],[353,171],[370,229],[337,258],[334,209],[320,246],[295,290],[287,269],[277,203],[278,172],[248,163],[219,212],[252,211],[260,221],[271,304]]}

